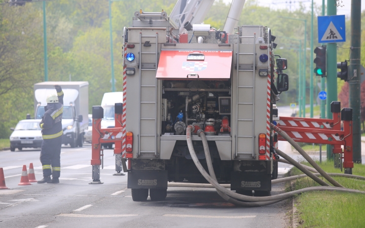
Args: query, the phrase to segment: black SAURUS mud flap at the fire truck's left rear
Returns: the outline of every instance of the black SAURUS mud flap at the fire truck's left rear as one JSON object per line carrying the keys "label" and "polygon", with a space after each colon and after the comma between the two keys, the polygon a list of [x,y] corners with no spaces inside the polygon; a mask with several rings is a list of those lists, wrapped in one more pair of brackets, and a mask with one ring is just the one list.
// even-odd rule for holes
{"label": "black SAURUS mud flap at the fire truck's left rear", "polygon": [[167,188],[167,170],[131,170],[128,188]]}

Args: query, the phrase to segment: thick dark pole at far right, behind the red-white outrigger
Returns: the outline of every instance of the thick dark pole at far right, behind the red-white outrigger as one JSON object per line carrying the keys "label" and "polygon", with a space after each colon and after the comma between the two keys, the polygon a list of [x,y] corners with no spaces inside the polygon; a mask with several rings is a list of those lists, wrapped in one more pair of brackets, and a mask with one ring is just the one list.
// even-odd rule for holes
{"label": "thick dark pole at far right, behind the red-white outrigger", "polygon": [[361,120],[360,120],[360,38],[361,0],[351,1],[351,50],[349,77],[349,104],[353,115],[353,162],[361,164]]}

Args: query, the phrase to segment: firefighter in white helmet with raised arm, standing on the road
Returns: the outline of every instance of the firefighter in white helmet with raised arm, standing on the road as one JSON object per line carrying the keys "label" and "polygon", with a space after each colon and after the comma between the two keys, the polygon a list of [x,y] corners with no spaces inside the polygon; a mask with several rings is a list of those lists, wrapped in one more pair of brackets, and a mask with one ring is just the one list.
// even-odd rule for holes
{"label": "firefighter in white helmet with raised arm, standing on the road", "polygon": [[61,172],[63,91],[58,85],[55,88],[57,95],[51,94],[47,97],[45,114],[40,123],[43,138],[40,158],[43,168],[43,179],[38,181],[38,183],[59,183],[58,178]]}

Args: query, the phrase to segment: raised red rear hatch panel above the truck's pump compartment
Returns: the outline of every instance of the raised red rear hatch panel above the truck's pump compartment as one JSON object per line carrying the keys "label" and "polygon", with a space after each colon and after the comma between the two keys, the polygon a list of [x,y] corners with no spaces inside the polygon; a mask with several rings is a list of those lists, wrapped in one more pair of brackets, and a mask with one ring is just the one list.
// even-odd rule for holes
{"label": "raised red rear hatch panel above the truck's pump compartment", "polygon": [[[200,52],[204,60],[187,60],[188,54]],[[162,50],[156,78],[170,80],[229,80],[232,51]],[[191,76],[191,74],[198,74]]]}

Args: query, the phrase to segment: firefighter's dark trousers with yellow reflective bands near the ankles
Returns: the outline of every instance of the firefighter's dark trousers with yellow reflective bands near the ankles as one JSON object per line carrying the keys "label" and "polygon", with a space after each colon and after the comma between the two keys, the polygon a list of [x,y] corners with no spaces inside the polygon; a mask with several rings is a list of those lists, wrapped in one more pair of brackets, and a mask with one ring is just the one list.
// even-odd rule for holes
{"label": "firefighter's dark trousers with yellow reflective bands near the ankles", "polygon": [[61,172],[60,155],[61,155],[62,136],[52,139],[43,139],[41,147],[41,163],[43,176],[58,178]]}

